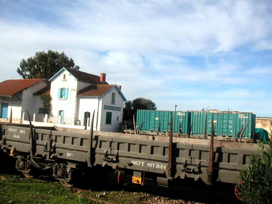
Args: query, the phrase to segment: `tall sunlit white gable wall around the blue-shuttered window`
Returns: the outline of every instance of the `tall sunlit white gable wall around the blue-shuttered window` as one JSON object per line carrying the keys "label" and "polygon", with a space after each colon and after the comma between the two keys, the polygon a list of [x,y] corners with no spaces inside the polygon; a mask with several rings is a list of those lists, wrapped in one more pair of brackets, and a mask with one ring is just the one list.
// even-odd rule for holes
{"label": "tall sunlit white gable wall around the blue-shuttered window", "polygon": [[[63,80],[63,74],[65,74],[66,80]],[[59,111],[63,110],[66,123],[72,124],[75,118],[77,80],[66,70],[62,71],[59,75],[51,81],[50,96],[52,100],[50,116],[57,117]],[[67,99],[58,99],[59,88],[68,88]]]}

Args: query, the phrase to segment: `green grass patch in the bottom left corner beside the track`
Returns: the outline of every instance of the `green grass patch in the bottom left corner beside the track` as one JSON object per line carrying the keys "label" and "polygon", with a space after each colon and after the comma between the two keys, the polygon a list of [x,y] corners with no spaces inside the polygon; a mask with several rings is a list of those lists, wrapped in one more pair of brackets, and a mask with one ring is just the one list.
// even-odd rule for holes
{"label": "green grass patch in the bottom left corner beside the track", "polygon": [[88,193],[73,193],[56,182],[8,174],[0,179],[0,203],[98,203],[90,200]]}

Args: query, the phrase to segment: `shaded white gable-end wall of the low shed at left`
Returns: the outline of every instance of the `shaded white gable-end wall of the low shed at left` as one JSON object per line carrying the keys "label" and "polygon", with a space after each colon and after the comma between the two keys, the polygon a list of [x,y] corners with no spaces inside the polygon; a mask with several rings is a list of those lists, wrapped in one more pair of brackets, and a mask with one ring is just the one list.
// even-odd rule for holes
{"label": "shaded white gable-end wall of the low shed at left", "polygon": [[[28,87],[27,89],[23,90],[22,96],[22,112],[28,110],[31,120],[33,120],[33,113],[36,113],[35,108],[35,100],[34,100],[34,93],[43,89],[47,86],[45,81],[41,81],[39,83],[34,84],[33,86]],[[25,119],[28,120],[27,114],[25,113]]]}

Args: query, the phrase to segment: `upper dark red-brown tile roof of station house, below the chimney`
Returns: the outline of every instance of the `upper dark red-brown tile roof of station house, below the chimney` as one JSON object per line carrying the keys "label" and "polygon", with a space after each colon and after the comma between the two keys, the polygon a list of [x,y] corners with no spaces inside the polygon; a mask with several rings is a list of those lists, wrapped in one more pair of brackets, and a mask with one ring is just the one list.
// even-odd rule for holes
{"label": "upper dark red-brown tile roof of station house, below the chimney", "polygon": [[100,76],[89,74],[79,70],[72,70],[69,68],[66,68],[66,70],[70,72],[79,81],[92,83],[92,84],[108,84],[107,82],[100,82]]}

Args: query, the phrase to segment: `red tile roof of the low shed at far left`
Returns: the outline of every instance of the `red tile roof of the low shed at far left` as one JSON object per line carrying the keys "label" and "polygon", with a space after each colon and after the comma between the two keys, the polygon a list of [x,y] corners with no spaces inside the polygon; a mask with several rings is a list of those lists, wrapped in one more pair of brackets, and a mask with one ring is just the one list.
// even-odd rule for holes
{"label": "red tile roof of the low shed at far left", "polygon": [[0,96],[13,96],[44,79],[9,79],[0,83]]}

